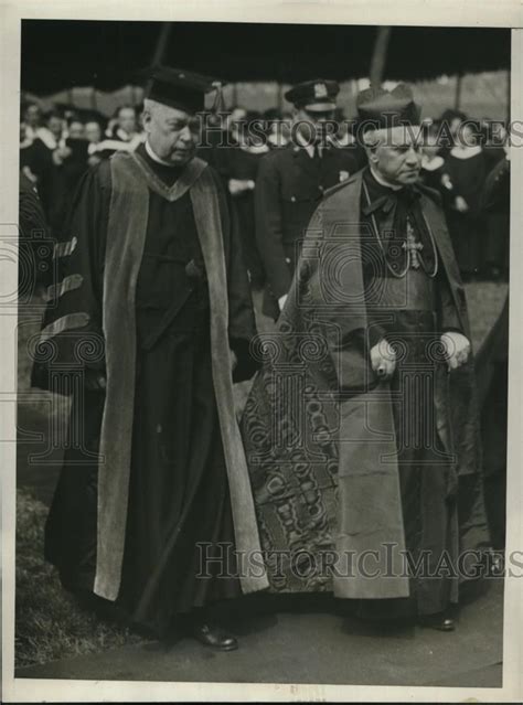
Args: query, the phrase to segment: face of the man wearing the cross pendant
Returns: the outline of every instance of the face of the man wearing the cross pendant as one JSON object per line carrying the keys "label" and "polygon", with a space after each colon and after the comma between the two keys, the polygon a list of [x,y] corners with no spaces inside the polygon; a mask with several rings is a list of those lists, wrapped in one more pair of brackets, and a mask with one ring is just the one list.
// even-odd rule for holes
{"label": "face of the man wearing the cross pendant", "polygon": [[371,165],[388,183],[408,185],[418,180],[421,168],[419,128],[393,127],[373,133],[374,146],[367,147]]}

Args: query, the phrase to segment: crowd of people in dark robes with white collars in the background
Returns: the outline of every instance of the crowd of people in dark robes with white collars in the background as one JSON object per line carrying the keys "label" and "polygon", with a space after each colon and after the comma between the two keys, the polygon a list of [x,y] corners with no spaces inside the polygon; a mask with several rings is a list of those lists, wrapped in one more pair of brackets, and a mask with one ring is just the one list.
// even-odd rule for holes
{"label": "crowd of people in dark robes with white collars in the background", "polygon": [[[132,151],[145,141],[141,111],[139,105],[122,105],[107,119],[98,111],[71,106],[56,106],[44,113],[36,103],[22,105],[20,169],[23,179],[38,191],[52,238],[60,241],[64,235],[82,175],[116,151]],[[364,165],[364,150],[342,108],[335,109],[333,119],[338,126],[337,149],[352,152],[354,163]],[[277,108],[259,113],[234,106],[225,120],[220,117],[222,131],[211,130],[206,148],[199,150],[199,156],[217,170],[236,206],[254,289],[262,289],[267,279],[256,234],[258,169],[266,154],[285,149],[292,141],[292,120],[290,111]],[[448,140],[440,143],[442,124],[448,126],[446,135],[451,135],[451,145]],[[253,130],[253,126],[258,129]],[[509,159],[504,140],[500,122],[471,121],[459,110],[446,110],[439,119],[426,122],[421,180],[441,194],[465,280],[508,279],[509,232],[499,227],[495,214],[483,210],[481,199],[489,173]]]}

